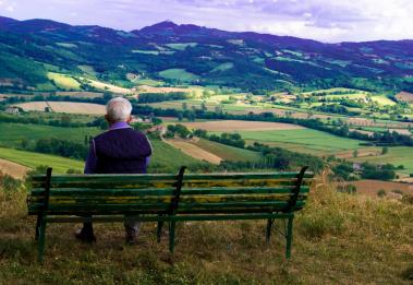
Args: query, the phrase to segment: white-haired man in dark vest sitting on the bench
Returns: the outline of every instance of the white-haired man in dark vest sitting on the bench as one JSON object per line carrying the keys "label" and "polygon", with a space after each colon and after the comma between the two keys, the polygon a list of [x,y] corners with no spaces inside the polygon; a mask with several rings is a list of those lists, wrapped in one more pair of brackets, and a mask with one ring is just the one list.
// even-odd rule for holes
{"label": "white-haired man in dark vest sitting on the bench", "polygon": [[[86,159],[85,174],[144,174],[151,155],[148,139],[133,130],[132,105],[122,97],[116,97],[106,105],[105,119],[109,130],[94,138]],[[136,244],[141,223],[125,218],[126,242]],[[75,234],[82,241],[96,241],[92,223],[84,223]]]}

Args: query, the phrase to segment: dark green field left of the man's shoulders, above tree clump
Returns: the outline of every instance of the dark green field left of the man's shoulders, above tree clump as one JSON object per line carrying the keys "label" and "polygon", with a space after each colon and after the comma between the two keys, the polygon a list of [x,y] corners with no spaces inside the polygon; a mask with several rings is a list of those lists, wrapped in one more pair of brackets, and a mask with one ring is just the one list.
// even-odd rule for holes
{"label": "dark green field left of the man's shoulders, above tree clump", "polygon": [[96,135],[101,130],[98,128],[63,128],[31,123],[0,122],[0,145],[8,147],[21,146],[22,140],[39,140],[56,138],[84,142],[85,135]]}

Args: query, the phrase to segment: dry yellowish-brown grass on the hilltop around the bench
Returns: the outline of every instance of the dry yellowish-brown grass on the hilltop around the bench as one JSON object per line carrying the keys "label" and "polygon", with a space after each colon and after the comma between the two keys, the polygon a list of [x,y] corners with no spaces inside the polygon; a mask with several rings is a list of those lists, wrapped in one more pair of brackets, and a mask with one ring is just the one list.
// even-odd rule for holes
{"label": "dry yellowish-brown grass on the hilltop around the bench", "polygon": [[264,221],[179,223],[173,257],[154,223],[136,247],[124,245],[120,223],[96,225],[93,246],[74,240],[76,225],[51,224],[40,266],[25,199],[0,189],[3,284],[411,284],[413,206],[404,203],[313,189],[291,260],[276,231],[264,242]]}

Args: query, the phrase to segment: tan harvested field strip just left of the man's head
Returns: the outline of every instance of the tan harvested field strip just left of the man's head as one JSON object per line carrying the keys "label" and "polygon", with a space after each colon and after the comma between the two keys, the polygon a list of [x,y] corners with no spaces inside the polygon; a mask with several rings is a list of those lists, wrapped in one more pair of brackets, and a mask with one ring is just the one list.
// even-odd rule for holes
{"label": "tan harvested field strip just left of the man's head", "polygon": [[88,114],[88,115],[105,115],[105,105],[92,103],[77,103],[77,102],[28,102],[17,104],[15,106],[22,107],[25,111],[36,110],[45,111],[47,107],[56,112],[68,114]]}

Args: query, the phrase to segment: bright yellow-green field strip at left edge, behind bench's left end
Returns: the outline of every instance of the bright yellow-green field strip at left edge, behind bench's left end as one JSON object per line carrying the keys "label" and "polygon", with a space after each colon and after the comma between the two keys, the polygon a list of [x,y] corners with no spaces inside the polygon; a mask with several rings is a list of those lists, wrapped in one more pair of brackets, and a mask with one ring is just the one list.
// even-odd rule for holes
{"label": "bright yellow-green field strip at left edge, behind bench's left end", "polygon": [[37,166],[50,166],[54,173],[65,174],[68,169],[83,170],[85,163],[81,161],[64,158],[61,156],[17,151],[0,147],[0,158],[14,162],[29,168]]}

